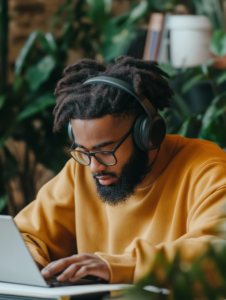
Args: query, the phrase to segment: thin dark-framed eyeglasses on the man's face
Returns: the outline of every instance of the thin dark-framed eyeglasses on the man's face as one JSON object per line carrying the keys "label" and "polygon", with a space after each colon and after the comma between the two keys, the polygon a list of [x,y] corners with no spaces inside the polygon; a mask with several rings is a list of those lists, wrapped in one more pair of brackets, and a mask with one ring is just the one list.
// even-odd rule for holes
{"label": "thin dark-framed eyeglasses on the man's face", "polygon": [[122,145],[122,143],[127,139],[127,137],[133,131],[133,127],[127,132],[123,139],[118,143],[118,145],[113,150],[102,150],[96,152],[85,152],[82,151],[80,147],[74,142],[71,148],[68,150],[75,161],[81,165],[88,166],[91,163],[91,156],[95,157],[96,160],[104,166],[114,166],[117,164],[117,158],[115,156],[115,151]]}

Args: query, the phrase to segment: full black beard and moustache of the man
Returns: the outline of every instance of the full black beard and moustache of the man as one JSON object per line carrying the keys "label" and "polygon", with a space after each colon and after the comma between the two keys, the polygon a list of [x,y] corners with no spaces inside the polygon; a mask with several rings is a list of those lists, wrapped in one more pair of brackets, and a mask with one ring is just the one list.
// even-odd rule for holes
{"label": "full black beard and moustache of the man", "polygon": [[[147,173],[148,162],[148,152],[143,152],[134,145],[133,154],[122,167],[120,176],[110,172],[93,173],[97,193],[101,201],[111,206],[115,206],[125,202],[129,197],[134,195],[136,186],[142,182]],[[101,185],[96,177],[104,175],[117,177],[117,183]]]}

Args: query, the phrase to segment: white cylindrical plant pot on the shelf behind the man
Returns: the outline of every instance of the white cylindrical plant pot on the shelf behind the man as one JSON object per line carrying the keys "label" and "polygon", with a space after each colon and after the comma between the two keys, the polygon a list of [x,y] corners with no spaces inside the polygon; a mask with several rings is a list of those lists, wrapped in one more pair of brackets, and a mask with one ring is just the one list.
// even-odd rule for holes
{"label": "white cylindrical plant pot on the shelf behind the man", "polygon": [[195,67],[211,58],[212,25],[205,16],[171,16],[170,60],[174,68]]}

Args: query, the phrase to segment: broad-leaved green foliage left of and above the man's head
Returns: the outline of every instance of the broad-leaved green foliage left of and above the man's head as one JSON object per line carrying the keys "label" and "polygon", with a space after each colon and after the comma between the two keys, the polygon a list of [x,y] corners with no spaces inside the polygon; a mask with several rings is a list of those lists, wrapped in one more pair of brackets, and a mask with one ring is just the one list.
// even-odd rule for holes
{"label": "broad-leaved green foliage left of and above the man's head", "polygon": [[[149,9],[147,1],[134,1],[128,13],[112,17],[110,2],[65,1],[57,11],[48,33],[35,31],[29,36],[16,61],[13,84],[9,85],[6,72],[8,2],[1,0],[0,20],[4,26],[0,28],[3,45],[0,213],[7,201],[12,206],[10,213],[15,215],[34,199],[37,180],[32,174],[36,173],[36,166],[40,167],[41,163],[47,171],[56,173],[68,159],[67,131],[52,134],[52,110],[55,104],[54,86],[67,64],[69,49],[82,51],[83,57],[95,58],[98,55],[111,61],[122,54],[136,34],[136,22]],[[19,148],[23,148],[21,157],[16,155],[20,152]],[[15,200],[15,197],[18,199]]]}

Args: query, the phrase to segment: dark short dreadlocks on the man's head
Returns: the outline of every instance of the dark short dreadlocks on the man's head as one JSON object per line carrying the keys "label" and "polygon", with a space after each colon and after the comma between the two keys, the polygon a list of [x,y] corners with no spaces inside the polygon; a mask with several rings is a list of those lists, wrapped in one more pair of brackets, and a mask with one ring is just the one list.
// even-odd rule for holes
{"label": "dark short dreadlocks on the man's head", "polygon": [[131,84],[137,94],[144,94],[156,110],[170,106],[174,95],[167,80],[168,74],[157,62],[119,56],[109,65],[91,59],[82,59],[68,66],[64,77],[57,83],[57,102],[53,130],[70,119],[97,119],[108,114],[130,115],[131,111],[143,110],[138,101],[121,89],[106,85],[83,85],[89,78],[109,76]]}

